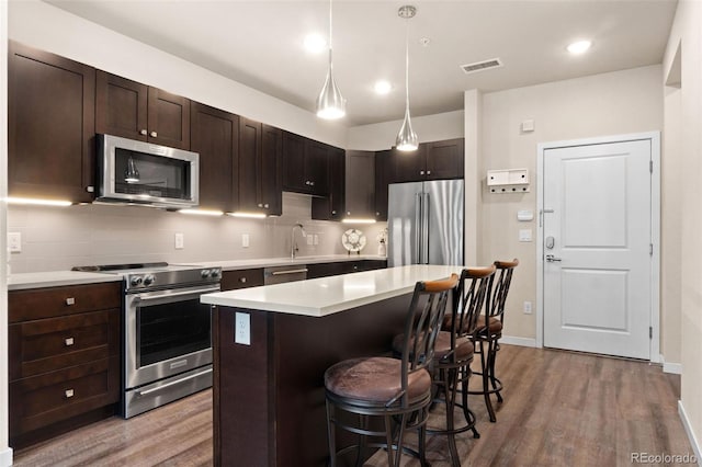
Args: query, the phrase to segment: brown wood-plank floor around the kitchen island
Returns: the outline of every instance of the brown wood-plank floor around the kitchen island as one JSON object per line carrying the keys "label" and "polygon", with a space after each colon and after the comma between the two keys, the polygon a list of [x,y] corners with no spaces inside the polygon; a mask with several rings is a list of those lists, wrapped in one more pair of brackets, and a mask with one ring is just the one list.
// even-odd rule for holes
{"label": "brown wood-plank floor around the kitchen island", "polygon": [[[680,377],[660,366],[502,345],[497,369],[505,402],[490,423],[482,397],[471,397],[482,436],[458,436],[464,467],[623,466],[632,453],[693,454],[678,415]],[[206,390],[129,420],[94,423],[15,452],[14,465],[210,466],[211,398]],[[441,420],[437,409],[431,423]],[[432,466],[450,465],[446,456],[445,438],[430,436]],[[385,464],[378,453],[365,465]],[[404,465],[419,463],[405,456]]]}

